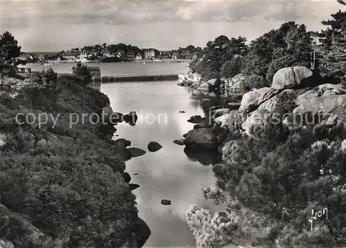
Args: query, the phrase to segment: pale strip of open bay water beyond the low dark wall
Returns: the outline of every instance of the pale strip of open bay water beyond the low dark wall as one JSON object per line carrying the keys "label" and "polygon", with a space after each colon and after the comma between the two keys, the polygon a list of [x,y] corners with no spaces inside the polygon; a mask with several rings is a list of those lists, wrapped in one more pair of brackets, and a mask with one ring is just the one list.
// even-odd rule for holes
{"label": "pale strip of open bay water beyond the low dark wall", "polygon": [[[60,63],[53,65],[52,69],[57,73],[72,73],[72,67],[76,63]],[[165,74],[181,74],[188,71],[188,63],[87,63],[89,67],[100,67],[101,76],[147,76],[147,75],[165,75]],[[44,64],[26,64],[33,71],[48,69]]]}

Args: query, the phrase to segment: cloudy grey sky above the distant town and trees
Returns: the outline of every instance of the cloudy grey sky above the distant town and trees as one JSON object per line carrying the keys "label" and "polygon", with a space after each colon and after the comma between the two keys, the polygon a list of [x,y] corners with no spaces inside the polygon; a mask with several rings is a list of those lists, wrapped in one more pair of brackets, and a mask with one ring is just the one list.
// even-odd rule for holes
{"label": "cloudy grey sky above the distant town and trees", "polygon": [[219,35],[255,39],[284,21],[320,30],[338,10],[346,6],[336,0],[0,0],[0,31],[26,52],[120,42],[169,50]]}

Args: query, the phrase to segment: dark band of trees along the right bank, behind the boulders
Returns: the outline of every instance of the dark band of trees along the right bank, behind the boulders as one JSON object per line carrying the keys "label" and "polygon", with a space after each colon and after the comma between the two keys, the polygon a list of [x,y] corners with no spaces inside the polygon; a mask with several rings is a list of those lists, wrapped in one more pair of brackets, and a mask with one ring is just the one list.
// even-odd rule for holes
{"label": "dark band of trees along the right bank, behind the boulders", "polygon": [[275,72],[283,67],[311,67],[311,53],[315,52],[313,67],[322,76],[340,82],[345,76],[342,63],[345,62],[345,16],[341,11],[331,15],[331,20],[322,21],[326,29],[321,32],[308,31],[304,24],[289,21],[248,45],[246,37],[221,35],[206,44],[203,58],[194,60],[190,69],[205,80],[244,73],[261,82],[255,85],[258,88],[271,84]]}

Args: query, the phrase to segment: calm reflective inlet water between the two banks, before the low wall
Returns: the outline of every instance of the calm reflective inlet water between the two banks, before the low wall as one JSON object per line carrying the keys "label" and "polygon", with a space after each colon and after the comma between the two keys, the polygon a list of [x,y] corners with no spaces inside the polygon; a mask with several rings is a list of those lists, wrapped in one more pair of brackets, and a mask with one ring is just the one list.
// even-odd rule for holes
{"label": "calm reflective inlet water between the two banks, before the low wall", "polygon": [[[152,230],[145,247],[195,247],[185,220],[189,206],[223,211],[206,200],[201,190],[215,184],[212,165],[203,165],[212,161],[208,154],[187,152],[188,157],[184,146],[172,142],[193,128],[194,124],[187,122],[190,116],[203,116],[199,100],[192,100],[186,89],[171,81],[102,84],[100,90],[109,96],[114,111],[134,110],[138,114],[136,126],[117,126],[117,139],[129,139],[133,147],[146,151],[150,141],[163,145],[158,152],[147,151],[143,157],[127,161],[131,183],[140,185],[134,191],[138,214]],[[180,110],[186,113],[180,114]],[[161,205],[163,199],[172,200],[172,205]]]}

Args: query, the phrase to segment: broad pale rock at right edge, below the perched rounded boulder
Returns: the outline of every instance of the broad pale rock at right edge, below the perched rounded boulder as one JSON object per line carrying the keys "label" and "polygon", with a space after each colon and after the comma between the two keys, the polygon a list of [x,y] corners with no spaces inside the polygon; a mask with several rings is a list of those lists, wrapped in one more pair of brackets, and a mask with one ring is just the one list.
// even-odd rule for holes
{"label": "broad pale rock at right edge, below the perched rounded boulder", "polygon": [[293,109],[284,124],[304,125],[307,122],[327,120],[333,116],[346,121],[346,95],[318,96],[307,99]]}

